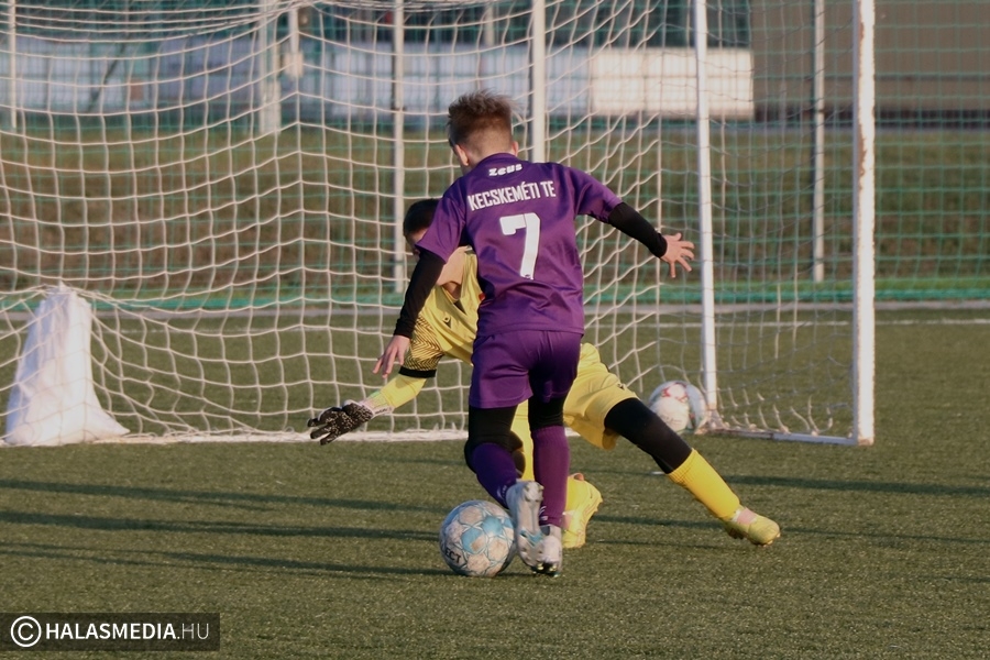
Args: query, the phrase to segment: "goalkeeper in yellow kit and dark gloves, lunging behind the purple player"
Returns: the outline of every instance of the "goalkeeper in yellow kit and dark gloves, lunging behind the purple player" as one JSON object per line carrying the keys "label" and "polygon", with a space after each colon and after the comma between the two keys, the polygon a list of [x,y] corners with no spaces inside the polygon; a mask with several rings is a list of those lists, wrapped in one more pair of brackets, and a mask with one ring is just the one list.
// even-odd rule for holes
{"label": "goalkeeper in yellow kit and dark gloves, lunging behind the purple player", "polygon": [[[403,221],[403,233],[415,245],[433,220],[437,199],[413,204]],[[415,251],[415,248],[414,248]],[[481,287],[476,277],[477,262],[462,248],[443,267],[437,286],[430,293],[413,332],[409,354],[399,371],[381,389],[361,402],[327,408],[309,420],[316,427],[310,437],[320,444],[332,442],[364,422],[406,404],[419,394],[426,380],[432,377],[444,355],[471,363],[477,330]],[[645,451],[672,482],[690,492],[722,521],[734,538],[745,538],[757,546],[769,546],[780,537],[773,520],[755,514],[711,464],[663,422],[648,406],[626,389],[609,373],[588,343],[581,345],[578,377],[564,402],[564,422],[585,440],[602,449],[613,449],[622,436]],[[526,404],[516,410],[513,432],[520,439],[516,463],[524,480],[532,479],[532,440]],[[562,521],[564,548],[584,544],[588,519],[597,510],[602,496],[580,474],[568,480],[568,497]]]}

